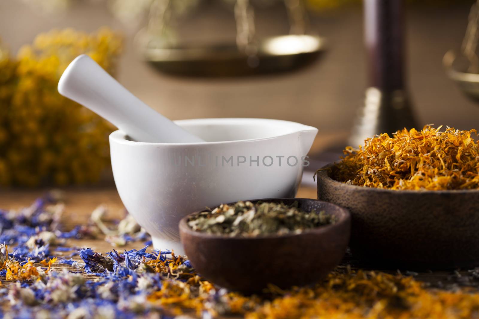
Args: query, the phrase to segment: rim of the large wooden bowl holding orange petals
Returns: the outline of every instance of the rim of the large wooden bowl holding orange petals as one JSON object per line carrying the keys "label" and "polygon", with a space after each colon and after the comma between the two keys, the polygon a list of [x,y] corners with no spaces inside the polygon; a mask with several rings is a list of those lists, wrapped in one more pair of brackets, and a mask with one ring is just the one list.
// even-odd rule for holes
{"label": "rim of the large wooden bowl holding orange petals", "polygon": [[412,190],[412,189],[388,189],[388,188],[375,188],[375,187],[365,187],[359,185],[352,185],[346,184],[345,182],[340,182],[332,179],[328,174],[328,169],[335,166],[337,162],[331,162],[319,170],[316,171],[316,184],[317,184],[317,191],[319,191],[319,180],[324,180],[325,182],[331,182],[333,184],[338,185],[338,187],[343,187],[346,189],[350,189],[352,191],[365,191],[365,192],[378,192],[378,193],[389,193],[389,194],[437,194],[437,195],[444,195],[444,194],[474,194],[478,193],[479,189],[451,189],[451,190]]}

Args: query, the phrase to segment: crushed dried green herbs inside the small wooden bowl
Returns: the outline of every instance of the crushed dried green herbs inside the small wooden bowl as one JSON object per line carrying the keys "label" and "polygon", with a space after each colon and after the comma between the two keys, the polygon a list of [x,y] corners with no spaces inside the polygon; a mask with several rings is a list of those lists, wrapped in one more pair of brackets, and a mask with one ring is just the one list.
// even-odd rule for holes
{"label": "crushed dried green herbs inside the small wooden bowl", "polygon": [[188,225],[196,231],[208,234],[227,234],[230,237],[254,237],[266,234],[300,233],[309,228],[331,224],[334,218],[314,210],[304,212],[293,205],[283,203],[238,202],[220,205],[213,211],[205,211],[191,217]]}

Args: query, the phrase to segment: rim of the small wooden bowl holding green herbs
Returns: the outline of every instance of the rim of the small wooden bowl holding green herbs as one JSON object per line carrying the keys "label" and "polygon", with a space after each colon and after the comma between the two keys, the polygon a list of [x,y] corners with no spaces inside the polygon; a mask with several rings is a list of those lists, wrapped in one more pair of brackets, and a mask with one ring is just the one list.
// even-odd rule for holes
{"label": "rim of the small wooden bowl holding green herbs", "polygon": [[[295,197],[295,198],[260,198],[260,199],[245,200],[243,202],[259,202],[259,201],[271,202],[271,201],[285,201],[285,200],[288,200],[288,201],[296,200],[298,202],[299,201],[313,201],[313,202],[320,202],[320,203],[323,203],[323,204],[326,204],[326,205],[330,205],[331,207],[335,207],[337,209],[336,214],[339,215],[339,219],[336,222],[334,222],[333,224],[327,224],[327,225],[322,225],[322,226],[318,226],[318,227],[315,227],[315,228],[305,229],[302,232],[300,232],[299,234],[286,233],[286,234],[282,234],[282,235],[268,234],[268,235],[254,236],[254,237],[230,237],[228,235],[203,233],[203,232],[200,232],[200,231],[193,230],[187,225],[186,221],[188,220],[188,218],[190,216],[193,216],[194,214],[204,212],[205,209],[203,209],[203,210],[198,210],[198,211],[195,211],[191,214],[188,214],[180,220],[180,223],[179,223],[180,234],[182,232],[185,232],[185,233],[188,233],[189,235],[192,235],[194,237],[201,237],[201,238],[204,238],[204,239],[228,239],[228,240],[235,240],[235,241],[247,241],[247,240],[251,241],[251,240],[258,240],[258,239],[286,239],[286,238],[292,238],[292,237],[297,237],[297,236],[301,236],[301,235],[321,234],[321,233],[328,232],[333,228],[338,228],[338,227],[340,227],[344,224],[347,224],[347,223],[350,224],[351,223],[351,214],[350,214],[348,209],[346,209],[344,207],[341,207],[339,205],[336,205],[336,204],[332,204],[332,203],[325,202],[325,201],[320,201],[319,199],[314,199],[314,198],[301,198],[301,197]],[[236,203],[236,202],[228,203],[226,205],[232,205],[234,203]],[[218,206],[215,206],[212,209],[215,209]],[[325,211],[325,213],[328,214],[327,211]],[[344,234],[344,236],[348,236],[348,235],[349,235],[349,233]]]}

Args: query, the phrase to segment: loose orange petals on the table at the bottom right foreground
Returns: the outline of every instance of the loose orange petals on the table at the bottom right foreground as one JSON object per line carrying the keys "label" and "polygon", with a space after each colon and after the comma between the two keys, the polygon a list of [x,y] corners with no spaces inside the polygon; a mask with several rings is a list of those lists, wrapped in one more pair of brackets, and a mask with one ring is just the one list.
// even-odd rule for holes
{"label": "loose orange petals on the table at the bottom right foreground", "polygon": [[473,291],[427,289],[400,273],[331,272],[312,287],[278,292],[246,313],[246,319],[469,319],[478,318]]}

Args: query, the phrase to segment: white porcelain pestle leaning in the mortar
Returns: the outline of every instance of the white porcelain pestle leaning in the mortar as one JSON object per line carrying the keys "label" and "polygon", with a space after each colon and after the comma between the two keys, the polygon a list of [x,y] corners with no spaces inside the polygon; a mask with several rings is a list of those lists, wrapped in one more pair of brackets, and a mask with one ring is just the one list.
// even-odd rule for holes
{"label": "white porcelain pestle leaning in the mortar", "polygon": [[139,142],[204,142],[143,103],[87,55],[76,57],[58,82],[61,95],[102,116]]}

